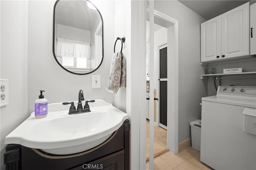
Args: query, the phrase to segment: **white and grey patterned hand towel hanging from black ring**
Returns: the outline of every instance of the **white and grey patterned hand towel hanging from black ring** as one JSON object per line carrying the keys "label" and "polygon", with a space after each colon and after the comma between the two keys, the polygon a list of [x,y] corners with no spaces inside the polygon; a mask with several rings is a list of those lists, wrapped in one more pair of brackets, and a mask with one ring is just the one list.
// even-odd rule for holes
{"label": "white and grey patterned hand towel hanging from black ring", "polygon": [[126,88],[126,59],[122,52],[114,53],[106,90],[116,94],[119,88]]}

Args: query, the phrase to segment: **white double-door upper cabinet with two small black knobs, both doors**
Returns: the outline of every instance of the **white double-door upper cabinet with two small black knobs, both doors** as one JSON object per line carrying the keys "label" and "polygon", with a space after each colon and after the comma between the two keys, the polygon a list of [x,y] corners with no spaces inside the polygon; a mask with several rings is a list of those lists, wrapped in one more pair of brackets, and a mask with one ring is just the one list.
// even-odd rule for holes
{"label": "white double-door upper cabinet with two small black knobs, both doors", "polygon": [[250,55],[249,2],[201,24],[201,62]]}

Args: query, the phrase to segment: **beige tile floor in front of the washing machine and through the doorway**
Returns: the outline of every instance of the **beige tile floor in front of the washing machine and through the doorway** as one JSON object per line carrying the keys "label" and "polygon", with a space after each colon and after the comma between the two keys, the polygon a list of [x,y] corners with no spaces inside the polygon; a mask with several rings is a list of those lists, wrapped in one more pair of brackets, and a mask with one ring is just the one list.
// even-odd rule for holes
{"label": "beige tile floor in front of the washing machine and through the doorway", "polygon": [[[154,127],[154,154],[166,149],[166,130]],[[149,156],[149,121],[147,121],[146,157]],[[149,169],[149,161],[146,162]],[[189,147],[179,154],[168,151],[154,158],[154,170],[213,170],[200,161],[200,152]]]}

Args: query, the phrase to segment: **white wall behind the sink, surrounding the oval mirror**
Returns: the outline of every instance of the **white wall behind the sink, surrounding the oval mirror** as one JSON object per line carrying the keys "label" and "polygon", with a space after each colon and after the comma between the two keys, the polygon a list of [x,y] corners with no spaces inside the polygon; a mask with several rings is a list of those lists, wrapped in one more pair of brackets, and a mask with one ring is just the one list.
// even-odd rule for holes
{"label": "white wall behind the sink, surrounding the oval mirror", "polygon": [[93,0],[104,22],[104,59],[92,74],[101,75],[101,88],[91,88],[91,76],[66,72],[52,53],[52,18],[55,0],[28,2],[28,114],[34,111],[39,90],[45,90],[48,103],[77,101],[78,91],[85,100],[103,99],[114,104],[114,95],[106,91],[114,37],[114,1]]}

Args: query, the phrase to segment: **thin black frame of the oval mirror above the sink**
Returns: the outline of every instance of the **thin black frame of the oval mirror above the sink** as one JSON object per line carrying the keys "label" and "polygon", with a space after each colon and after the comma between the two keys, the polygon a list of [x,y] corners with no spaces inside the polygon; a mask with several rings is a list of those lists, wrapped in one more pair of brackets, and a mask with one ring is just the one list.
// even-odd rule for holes
{"label": "thin black frame of the oval mirror above the sink", "polygon": [[100,18],[101,18],[101,21],[102,21],[102,59],[101,59],[101,62],[100,62],[100,64],[99,64],[99,66],[97,67],[97,68],[95,68],[94,70],[92,70],[92,71],[90,71],[90,72],[87,72],[87,73],[76,73],[76,72],[72,72],[72,71],[70,71],[70,70],[68,70],[68,69],[66,69],[64,66],[62,66],[60,63],[59,63],[59,61],[58,61],[58,59],[56,58],[56,55],[55,55],[55,50],[54,50],[54,48],[55,48],[55,46],[54,46],[54,36],[55,36],[55,8],[56,8],[56,5],[57,5],[57,3],[59,2],[60,0],[56,0],[56,2],[55,2],[55,4],[54,4],[54,8],[53,8],[53,34],[52,34],[52,53],[53,53],[53,55],[54,55],[54,59],[56,60],[56,62],[64,69],[64,70],[66,70],[67,72],[70,72],[70,73],[72,73],[72,74],[78,74],[78,75],[85,75],[85,74],[90,74],[90,73],[92,73],[92,72],[94,72],[94,71],[96,71],[99,67],[100,67],[100,65],[102,64],[102,62],[103,62],[103,58],[104,58],[104,31],[103,31],[103,18],[102,18],[102,15],[100,14],[100,11],[98,10],[98,8],[92,3],[92,2],[90,2],[90,0],[87,0],[88,2],[90,2],[95,8],[96,8],[96,10],[98,11],[98,13],[100,14]]}

